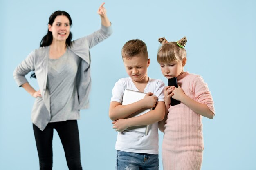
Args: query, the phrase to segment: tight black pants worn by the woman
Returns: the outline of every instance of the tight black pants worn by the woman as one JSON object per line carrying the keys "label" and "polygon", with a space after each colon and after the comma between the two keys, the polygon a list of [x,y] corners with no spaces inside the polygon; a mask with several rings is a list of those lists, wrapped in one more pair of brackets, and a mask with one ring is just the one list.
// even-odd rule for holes
{"label": "tight black pants worn by the woman", "polygon": [[70,170],[82,170],[76,120],[49,123],[43,131],[33,124],[40,170],[52,170],[52,137],[54,129],[56,129],[61,139],[68,168]]}

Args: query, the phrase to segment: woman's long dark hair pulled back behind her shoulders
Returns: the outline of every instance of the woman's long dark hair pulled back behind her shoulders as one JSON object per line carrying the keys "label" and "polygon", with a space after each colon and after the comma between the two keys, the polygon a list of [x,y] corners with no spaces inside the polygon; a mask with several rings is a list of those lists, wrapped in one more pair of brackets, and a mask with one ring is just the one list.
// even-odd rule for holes
{"label": "woman's long dark hair pulled back behind her shoulders", "polygon": [[[54,13],[52,13],[52,15],[50,16],[49,18],[49,22],[48,24],[52,25],[52,23],[54,22],[55,18],[59,15],[64,15],[68,18],[68,20],[70,20],[70,27],[72,26],[72,20],[71,20],[71,17],[70,15],[65,12],[65,11],[55,11]],[[67,40],[66,40],[66,45],[67,46],[70,46],[70,42],[71,42],[71,39],[72,39],[72,33],[70,32],[70,35],[68,36]],[[52,44],[52,32],[49,31],[48,29],[48,32],[47,34],[42,38],[41,42],[40,42],[40,47],[43,47],[43,46],[49,46]]]}

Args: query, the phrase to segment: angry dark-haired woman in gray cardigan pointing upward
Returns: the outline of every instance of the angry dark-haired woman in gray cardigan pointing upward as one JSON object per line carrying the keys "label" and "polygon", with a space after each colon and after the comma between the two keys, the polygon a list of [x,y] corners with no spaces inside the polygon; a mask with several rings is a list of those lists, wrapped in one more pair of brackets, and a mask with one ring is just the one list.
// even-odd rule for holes
{"label": "angry dark-haired woman in gray cardigan pointing upward", "polygon": [[[55,11],[49,18],[48,33],[13,73],[18,86],[35,97],[32,123],[40,170],[52,170],[52,138],[56,129],[63,144],[67,166],[82,170],[77,119],[80,109],[88,107],[90,92],[89,49],[111,35],[111,23],[101,4],[98,14],[101,29],[71,41],[72,20],[65,11]],[[25,75],[34,71],[40,90],[27,82]]]}

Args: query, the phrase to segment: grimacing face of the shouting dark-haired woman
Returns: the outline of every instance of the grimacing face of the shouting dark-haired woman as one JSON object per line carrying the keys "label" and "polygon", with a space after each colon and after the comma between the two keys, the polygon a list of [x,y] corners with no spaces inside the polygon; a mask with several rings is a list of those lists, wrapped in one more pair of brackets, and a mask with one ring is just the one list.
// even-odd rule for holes
{"label": "grimacing face of the shouting dark-haired woman", "polygon": [[70,35],[70,21],[65,15],[56,16],[52,25],[48,25],[52,32],[53,41],[65,41]]}

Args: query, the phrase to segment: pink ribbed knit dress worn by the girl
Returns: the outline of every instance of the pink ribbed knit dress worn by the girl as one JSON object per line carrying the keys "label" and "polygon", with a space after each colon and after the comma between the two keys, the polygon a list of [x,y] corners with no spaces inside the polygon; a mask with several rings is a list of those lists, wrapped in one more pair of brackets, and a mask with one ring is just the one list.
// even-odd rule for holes
{"label": "pink ribbed knit dress worn by the girl", "polygon": [[[185,72],[177,77],[179,86],[191,99],[214,112],[213,99],[200,75]],[[202,116],[180,103],[170,106],[164,130],[164,170],[200,170],[204,150]]]}

